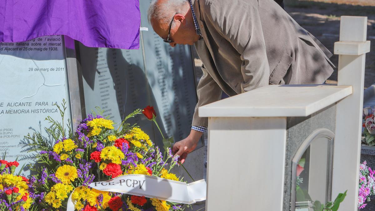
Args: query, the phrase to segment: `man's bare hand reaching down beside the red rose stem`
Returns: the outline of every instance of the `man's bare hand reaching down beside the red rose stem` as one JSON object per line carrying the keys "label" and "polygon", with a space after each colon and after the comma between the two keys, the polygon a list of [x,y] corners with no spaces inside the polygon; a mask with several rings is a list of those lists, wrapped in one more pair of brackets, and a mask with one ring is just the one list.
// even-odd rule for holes
{"label": "man's bare hand reaching down beside the red rose stem", "polygon": [[201,138],[202,134],[203,134],[202,132],[191,130],[190,135],[187,136],[186,139],[176,142],[173,145],[172,152],[175,155],[180,155],[180,158],[178,158],[178,160],[180,160],[181,163],[184,163],[187,157],[187,154],[189,154],[196,148],[196,145],[198,144],[199,139]]}

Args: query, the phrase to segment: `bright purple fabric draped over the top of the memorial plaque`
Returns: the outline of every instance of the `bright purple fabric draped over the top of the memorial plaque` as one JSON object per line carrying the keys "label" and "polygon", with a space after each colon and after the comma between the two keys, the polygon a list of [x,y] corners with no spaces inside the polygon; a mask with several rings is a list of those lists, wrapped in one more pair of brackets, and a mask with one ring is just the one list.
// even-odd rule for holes
{"label": "bright purple fabric draped over the top of the memorial plaque", "polygon": [[139,0],[0,2],[0,42],[68,35],[88,47],[139,48]]}

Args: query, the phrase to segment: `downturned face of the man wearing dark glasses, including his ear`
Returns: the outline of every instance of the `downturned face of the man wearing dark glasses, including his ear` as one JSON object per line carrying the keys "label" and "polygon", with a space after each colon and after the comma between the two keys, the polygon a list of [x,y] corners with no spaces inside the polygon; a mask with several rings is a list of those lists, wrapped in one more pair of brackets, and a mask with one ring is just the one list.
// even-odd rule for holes
{"label": "downturned face of the man wearing dark glasses, including his ear", "polygon": [[[175,14],[171,17],[171,21],[174,23],[174,26],[172,24],[171,32],[169,33],[169,40],[172,41],[169,45],[172,47],[175,47],[176,44],[193,45],[194,42],[199,40],[199,35],[196,35],[195,32],[193,19],[191,17],[191,21],[189,21],[188,14],[186,16]],[[151,20],[151,26],[160,38],[167,39],[170,26],[169,23],[160,24],[157,21]]]}

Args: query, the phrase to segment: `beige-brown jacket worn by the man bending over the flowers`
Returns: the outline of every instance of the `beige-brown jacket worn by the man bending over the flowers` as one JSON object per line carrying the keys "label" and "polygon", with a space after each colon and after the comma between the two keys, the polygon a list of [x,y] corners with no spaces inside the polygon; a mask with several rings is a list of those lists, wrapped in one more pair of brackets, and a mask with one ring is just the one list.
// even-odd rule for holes
{"label": "beige-brown jacket worn by the man bending over the flowers", "polygon": [[193,8],[204,40],[195,43],[203,76],[192,125],[207,126],[198,107],[222,91],[322,84],[333,72],[329,50],[273,0],[195,0]]}

